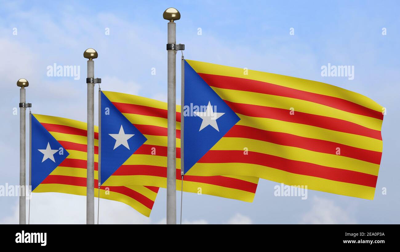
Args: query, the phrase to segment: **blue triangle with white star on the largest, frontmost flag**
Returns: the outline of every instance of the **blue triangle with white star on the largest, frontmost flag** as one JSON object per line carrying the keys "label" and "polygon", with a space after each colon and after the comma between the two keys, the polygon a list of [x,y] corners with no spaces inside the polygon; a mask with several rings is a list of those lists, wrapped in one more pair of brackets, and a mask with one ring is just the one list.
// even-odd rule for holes
{"label": "blue triangle with white star on the largest, frontmost flag", "polygon": [[240,118],[186,61],[184,67],[183,154],[187,173]]}

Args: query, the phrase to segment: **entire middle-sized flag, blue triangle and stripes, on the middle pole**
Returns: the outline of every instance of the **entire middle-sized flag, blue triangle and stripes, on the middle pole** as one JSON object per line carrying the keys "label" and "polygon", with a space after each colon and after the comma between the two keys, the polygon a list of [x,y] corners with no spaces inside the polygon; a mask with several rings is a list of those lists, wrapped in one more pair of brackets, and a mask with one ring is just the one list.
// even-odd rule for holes
{"label": "entire middle-sized flag, blue triangle and stripes, on the middle pole", "polygon": [[[102,185],[151,185],[166,188],[167,175],[167,103],[136,95],[102,91],[101,96],[101,173],[112,174]],[[180,106],[176,108],[176,187],[181,190],[180,170]],[[106,114],[110,112],[110,114]],[[112,112],[112,113],[111,113]],[[119,114],[118,114],[119,112]],[[126,124],[127,118],[133,126]],[[110,136],[124,128],[124,134],[142,135],[146,141],[136,151],[133,149],[135,136],[128,139],[127,145],[116,144]],[[125,130],[125,129],[130,130]],[[108,129],[108,130],[107,130]],[[140,133],[137,133],[138,130]],[[136,132],[136,133],[135,133]],[[109,141],[105,147],[105,139]],[[131,142],[129,142],[131,141]],[[141,140],[140,140],[141,141]],[[131,147],[132,144],[132,147]],[[114,149],[114,147],[116,149]],[[129,150],[127,148],[129,146]],[[107,148],[107,149],[106,149]],[[118,148],[124,152],[133,152],[131,156],[118,159],[123,164],[115,170],[117,163],[105,166],[103,160],[110,158]],[[111,170],[111,171],[110,171]],[[252,202],[258,184],[257,177],[249,176],[184,176],[183,191],[214,195],[230,199]]]}

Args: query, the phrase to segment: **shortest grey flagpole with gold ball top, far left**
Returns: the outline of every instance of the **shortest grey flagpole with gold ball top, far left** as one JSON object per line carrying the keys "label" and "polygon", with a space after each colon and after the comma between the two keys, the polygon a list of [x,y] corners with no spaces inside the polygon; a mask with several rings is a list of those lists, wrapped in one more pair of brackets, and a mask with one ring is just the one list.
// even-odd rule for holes
{"label": "shortest grey flagpole with gold ball top, far left", "polygon": [[25,87],[29,86],[26,79],[19,79],[17,86],[20,87],[20,224],[26,224],[26,108],[30,107],[30,103],[25,103]]}

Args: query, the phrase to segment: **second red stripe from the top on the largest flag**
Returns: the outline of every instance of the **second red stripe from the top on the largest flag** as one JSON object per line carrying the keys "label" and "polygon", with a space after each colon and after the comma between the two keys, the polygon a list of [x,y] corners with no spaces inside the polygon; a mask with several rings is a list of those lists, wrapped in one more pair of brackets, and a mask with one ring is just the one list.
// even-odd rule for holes
{"label": "second red stripe from the top on the largest flag", "polygon": [[294,114],[290,114],[291,110],[283,108],[272,108],[260,105],[235,103],[227,100],[225,100],[225,102],[226,104],[228,104],[228,106],[230,106],[230,108],[232,108],[234,112],[238,114],[243,114],[245,116],[270,118],[285,122],[295,122],[299,124],[306,124],[328,130],[335,130],[360,136],[368,136],[370,138],[382,140],[382,136],[379,130],[372,130],[370,128],[366,128],[364,126],[355,124],[353,122],[348,122],[346,120],[341,120],[328,116],[308,114],[298,111],[295,111]]}

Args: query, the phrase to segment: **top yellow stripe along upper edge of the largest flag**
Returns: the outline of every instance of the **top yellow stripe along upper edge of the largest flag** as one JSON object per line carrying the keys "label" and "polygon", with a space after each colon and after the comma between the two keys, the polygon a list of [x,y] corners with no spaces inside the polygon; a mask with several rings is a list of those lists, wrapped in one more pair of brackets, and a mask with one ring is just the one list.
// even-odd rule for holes
{"label": "top yellow stripe along upper edge of the largest flag", "polygon": [[292,89],[298,89],[311,93],[342,98],[360,104],[361,106],[382,112],[382,106],[374,102],[372,99],[364,95],[360,95],[358,93],[342,89],[340,87],[336,87],[333,85],[329,85],[326,83],[289,77],[285,75],[277,75],[273,73],[264,73],[253,70],[248,70],[248,75],[244,75],[244,71],[242,68],[227,67],[223,65],[205,63],[193,60],[186,60],[186,61],[190,64],[191,67],[193,67],[194,71],[196,71],[197,73],[230,76],[230,77],[250,79],[255,81],[268,82],[283,87],[289,87]]}

